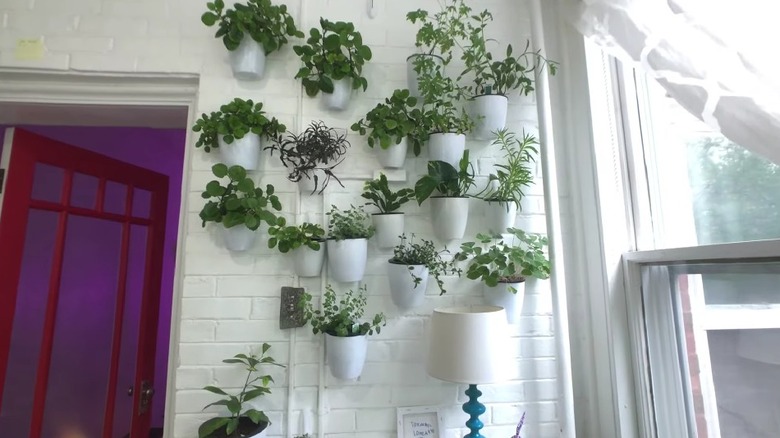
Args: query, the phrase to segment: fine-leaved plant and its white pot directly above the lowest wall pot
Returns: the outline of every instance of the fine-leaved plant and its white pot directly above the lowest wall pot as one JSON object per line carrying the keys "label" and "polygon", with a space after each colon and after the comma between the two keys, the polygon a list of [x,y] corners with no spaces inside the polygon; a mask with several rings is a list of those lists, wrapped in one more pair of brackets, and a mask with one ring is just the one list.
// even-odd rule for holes
{"label": "fine-leaved plant and its white pot directly above the lowest wall pot", "polygon": [[328,212],[328,272],[339,282],[360,281],[366,272],[368,239],[374,235],[363,207]]}

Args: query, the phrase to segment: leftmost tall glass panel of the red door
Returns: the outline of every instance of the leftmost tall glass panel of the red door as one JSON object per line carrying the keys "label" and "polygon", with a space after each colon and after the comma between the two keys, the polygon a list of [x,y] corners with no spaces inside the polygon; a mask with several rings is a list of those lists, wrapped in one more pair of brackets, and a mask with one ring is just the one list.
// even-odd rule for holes
{"label": "leftmost tall glass panel of the red door", "polygon": [[28,216],[8,371],[3,388],[3,407],[0,412],[2,436],[26,437],[30,434],[33,388],[43,336],[57,217],[55,212],[42,210],[30,210]]}

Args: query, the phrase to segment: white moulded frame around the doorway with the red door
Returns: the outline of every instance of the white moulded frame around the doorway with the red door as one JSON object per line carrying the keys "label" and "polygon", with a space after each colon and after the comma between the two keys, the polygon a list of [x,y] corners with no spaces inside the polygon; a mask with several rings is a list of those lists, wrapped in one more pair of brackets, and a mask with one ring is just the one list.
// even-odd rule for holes
{"label": "white moulded frame around the doorway with the red door", "polygon": [[176,357],[179,354],[179,321],[184,278],[184,242],[187,230],[187,194],[190,186],[189,147],[197,118],[198,75],[87,74],[39,70],[0,69],[0,105],[36,103],[51,105],[178,106],[187,108],[186,140],[181,181],[181,204],[176,240],[165,391],[164,436],[173,436]]}

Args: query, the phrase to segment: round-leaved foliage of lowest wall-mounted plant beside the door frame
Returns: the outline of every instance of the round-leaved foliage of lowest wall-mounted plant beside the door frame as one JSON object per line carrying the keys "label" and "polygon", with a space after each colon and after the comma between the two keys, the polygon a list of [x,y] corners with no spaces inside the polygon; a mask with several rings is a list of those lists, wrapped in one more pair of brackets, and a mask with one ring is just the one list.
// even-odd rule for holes
{"label": "round-leaved foliage of lowest wall-mounted plant beside the door frame", "polygon": [[224,186],[217,180],[206,184],[203,198],[216,200],[207,202],[200,211],[204,227],[206,222],[222,223],[225,228],[243,224],[254,231],[262,222],[271,226],[276,224],[276,215],[269,206],[280,211],[282,204],[274,195],[274,186],[266,185],[265,192],[255,187],[254,181],[246,176],[246,170],[241,166],[228,169],[226,165],[217,163],[211,171],[217,178],[227,177],[229,181]]}

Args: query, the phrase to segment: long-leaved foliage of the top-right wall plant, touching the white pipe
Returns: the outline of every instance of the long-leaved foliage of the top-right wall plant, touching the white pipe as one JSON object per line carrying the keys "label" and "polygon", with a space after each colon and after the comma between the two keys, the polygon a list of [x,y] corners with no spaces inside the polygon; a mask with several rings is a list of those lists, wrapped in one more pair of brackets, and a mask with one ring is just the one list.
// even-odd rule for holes
{"label": "long-leaved foliage of the top-right wall plant, touching the white pipe", "polygon": [[541,51],[530,49],[526,41],[523,52],[513,56],[512,45],[506,48],[503,60],[493,60],[493,54],[488,51],[485,38],[485,28],[493,21],[493,14],[487,10],[471,16],[467,25],[468,43],[463,47],[461,59],[465,64],[459,80],[467,75],[472,76],[473,85],[467,87],[472,96],[483,94],[506,95],[512,90],[520,90],[527,95],[534,90],[533,75],[537,69],[547,66],[551,75],[558,70],[558,63],[542,56]]}

